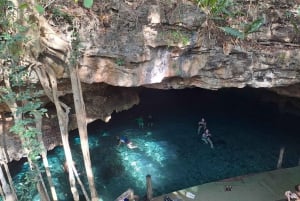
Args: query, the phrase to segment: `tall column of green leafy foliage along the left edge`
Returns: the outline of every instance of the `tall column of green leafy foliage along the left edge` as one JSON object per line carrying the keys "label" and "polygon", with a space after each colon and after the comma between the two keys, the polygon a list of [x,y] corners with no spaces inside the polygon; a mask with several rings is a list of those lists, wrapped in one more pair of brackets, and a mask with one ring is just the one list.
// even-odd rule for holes
{"label": "tall column of green leafy foliage along the left edge", "polygon": [[[17,188],[19,200],[32,200],[37,193],[36,164],[42,152],[42,142],[38,139],[42,133],[36,128],[39,119],[35,119],[34,114],[42,116],[46,112],[40,101],[43,93],[31,82],[31,68],[24,62],[25,47],[31,40],[27,37],[28,30],[36,30],[38,27],[34,16],[36,11],[41,15],[44,8],[29,2],[15,7],[11,1],[0,0],[0,74],[5,79],[5,82],[0,83],[0,102],[9,106],[13,104],[14,125],[9,131],[19,136],[31,164],[20,188]],[[29,12],[32,15],[29,16]],[[24,14],[23,18],[17,18],[16,13]],[[17,108],[14,108],[15,105]]]}

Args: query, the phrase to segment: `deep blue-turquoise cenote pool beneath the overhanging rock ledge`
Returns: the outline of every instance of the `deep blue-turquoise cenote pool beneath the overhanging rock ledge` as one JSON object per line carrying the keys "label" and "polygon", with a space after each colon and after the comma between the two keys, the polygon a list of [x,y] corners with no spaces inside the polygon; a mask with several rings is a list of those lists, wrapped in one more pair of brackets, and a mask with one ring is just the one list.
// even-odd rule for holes
{"label": "deep blue-turquoise cenote pool beneath the overhanging rock ledge", "polygon": [[[239,175],[276,169],[279,150],[285,147],[282,167],[298,165],[300,117],[263,101],[276,97],[263,89],[155,90],[143,89],[141,102],[112,114],[109,123],[88,126],[90,154],[97,191],[103,201],[113,201],[132,188],[143,197],[146,175],[151,175],[154,196]],[[139,128],[137,119],[152,115],[154,126]],[[215,148],[197,135],[204,117]],[[117,146],[116,136],[126,135],[138,148]],[[70,132],[72,153],[83,171],[77,131]],[[59,200],[72,200],[63,172],[61,147],[49,152]],[[14,175],[24,179],[26,163]],[[84,174],[82,172],[82,174]],[[86,181],[85,181],[86,182]]]}

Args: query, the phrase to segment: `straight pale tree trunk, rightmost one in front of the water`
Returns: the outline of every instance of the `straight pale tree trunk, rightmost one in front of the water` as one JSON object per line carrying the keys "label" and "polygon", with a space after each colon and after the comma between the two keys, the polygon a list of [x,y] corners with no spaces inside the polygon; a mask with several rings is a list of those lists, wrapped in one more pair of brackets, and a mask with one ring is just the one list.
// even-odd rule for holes
{"label": "straight pale tree trunk, rightmost one in front of the water", "polygon": [[[76,65],[77,67],[77,65]],[[84,159],[85,170],[89,182],[89,187],[91,191],[91,198],[92,201],[98,201],[97,190],[95,187],[94,182],[94,175],[91,165],[90,159],[90,151],[89,151],[89,142],[88,142],[88,134],[87,134],[87,123],[86,123],[86,112],[85,112],[85,105],[82,97],[82,90],[80,85],[80,79],[77,75],[77,69],[69,64],[69,71],[71,77],[71,84],[72,84],[72,91],[74,97],[74,105],[76,110],[76,119],[77,119],[77,126],[80,136],[80,144],[82,155]]]}

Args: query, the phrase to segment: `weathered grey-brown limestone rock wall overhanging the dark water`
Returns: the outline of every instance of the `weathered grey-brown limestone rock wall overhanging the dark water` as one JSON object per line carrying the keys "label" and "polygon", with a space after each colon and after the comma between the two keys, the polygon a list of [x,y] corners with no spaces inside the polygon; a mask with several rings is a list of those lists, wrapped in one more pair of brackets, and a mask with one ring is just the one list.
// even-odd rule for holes
{"label": "weathered grey-brown limestone rock wall overhanging the dark water", "polygon": [[167,89],[299,83],[299,3],[236,4],[248,19],[264,19],[245,40],[209,27],[207,15],[191,1],[111,1],[104,9],[96,3],[93,15],[82,20],[89,25],[80,30],[85,45],[81,80]]}

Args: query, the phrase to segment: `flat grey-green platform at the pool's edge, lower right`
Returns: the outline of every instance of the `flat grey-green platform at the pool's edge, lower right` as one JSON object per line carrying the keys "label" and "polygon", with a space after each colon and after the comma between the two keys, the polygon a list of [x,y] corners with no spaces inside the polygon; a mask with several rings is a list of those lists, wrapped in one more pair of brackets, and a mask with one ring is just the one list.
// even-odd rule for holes
{"label": "flat grey-green platform at the pool's edge, lower right", "polygon": [[[163,201],[164,196],[174,201],[283,201],[284,192],[294,191],[299,183],[300,166],[297,166],[194,186],[152,201]],[[231,191],[226,191],[226,186],[232,186]]]}

